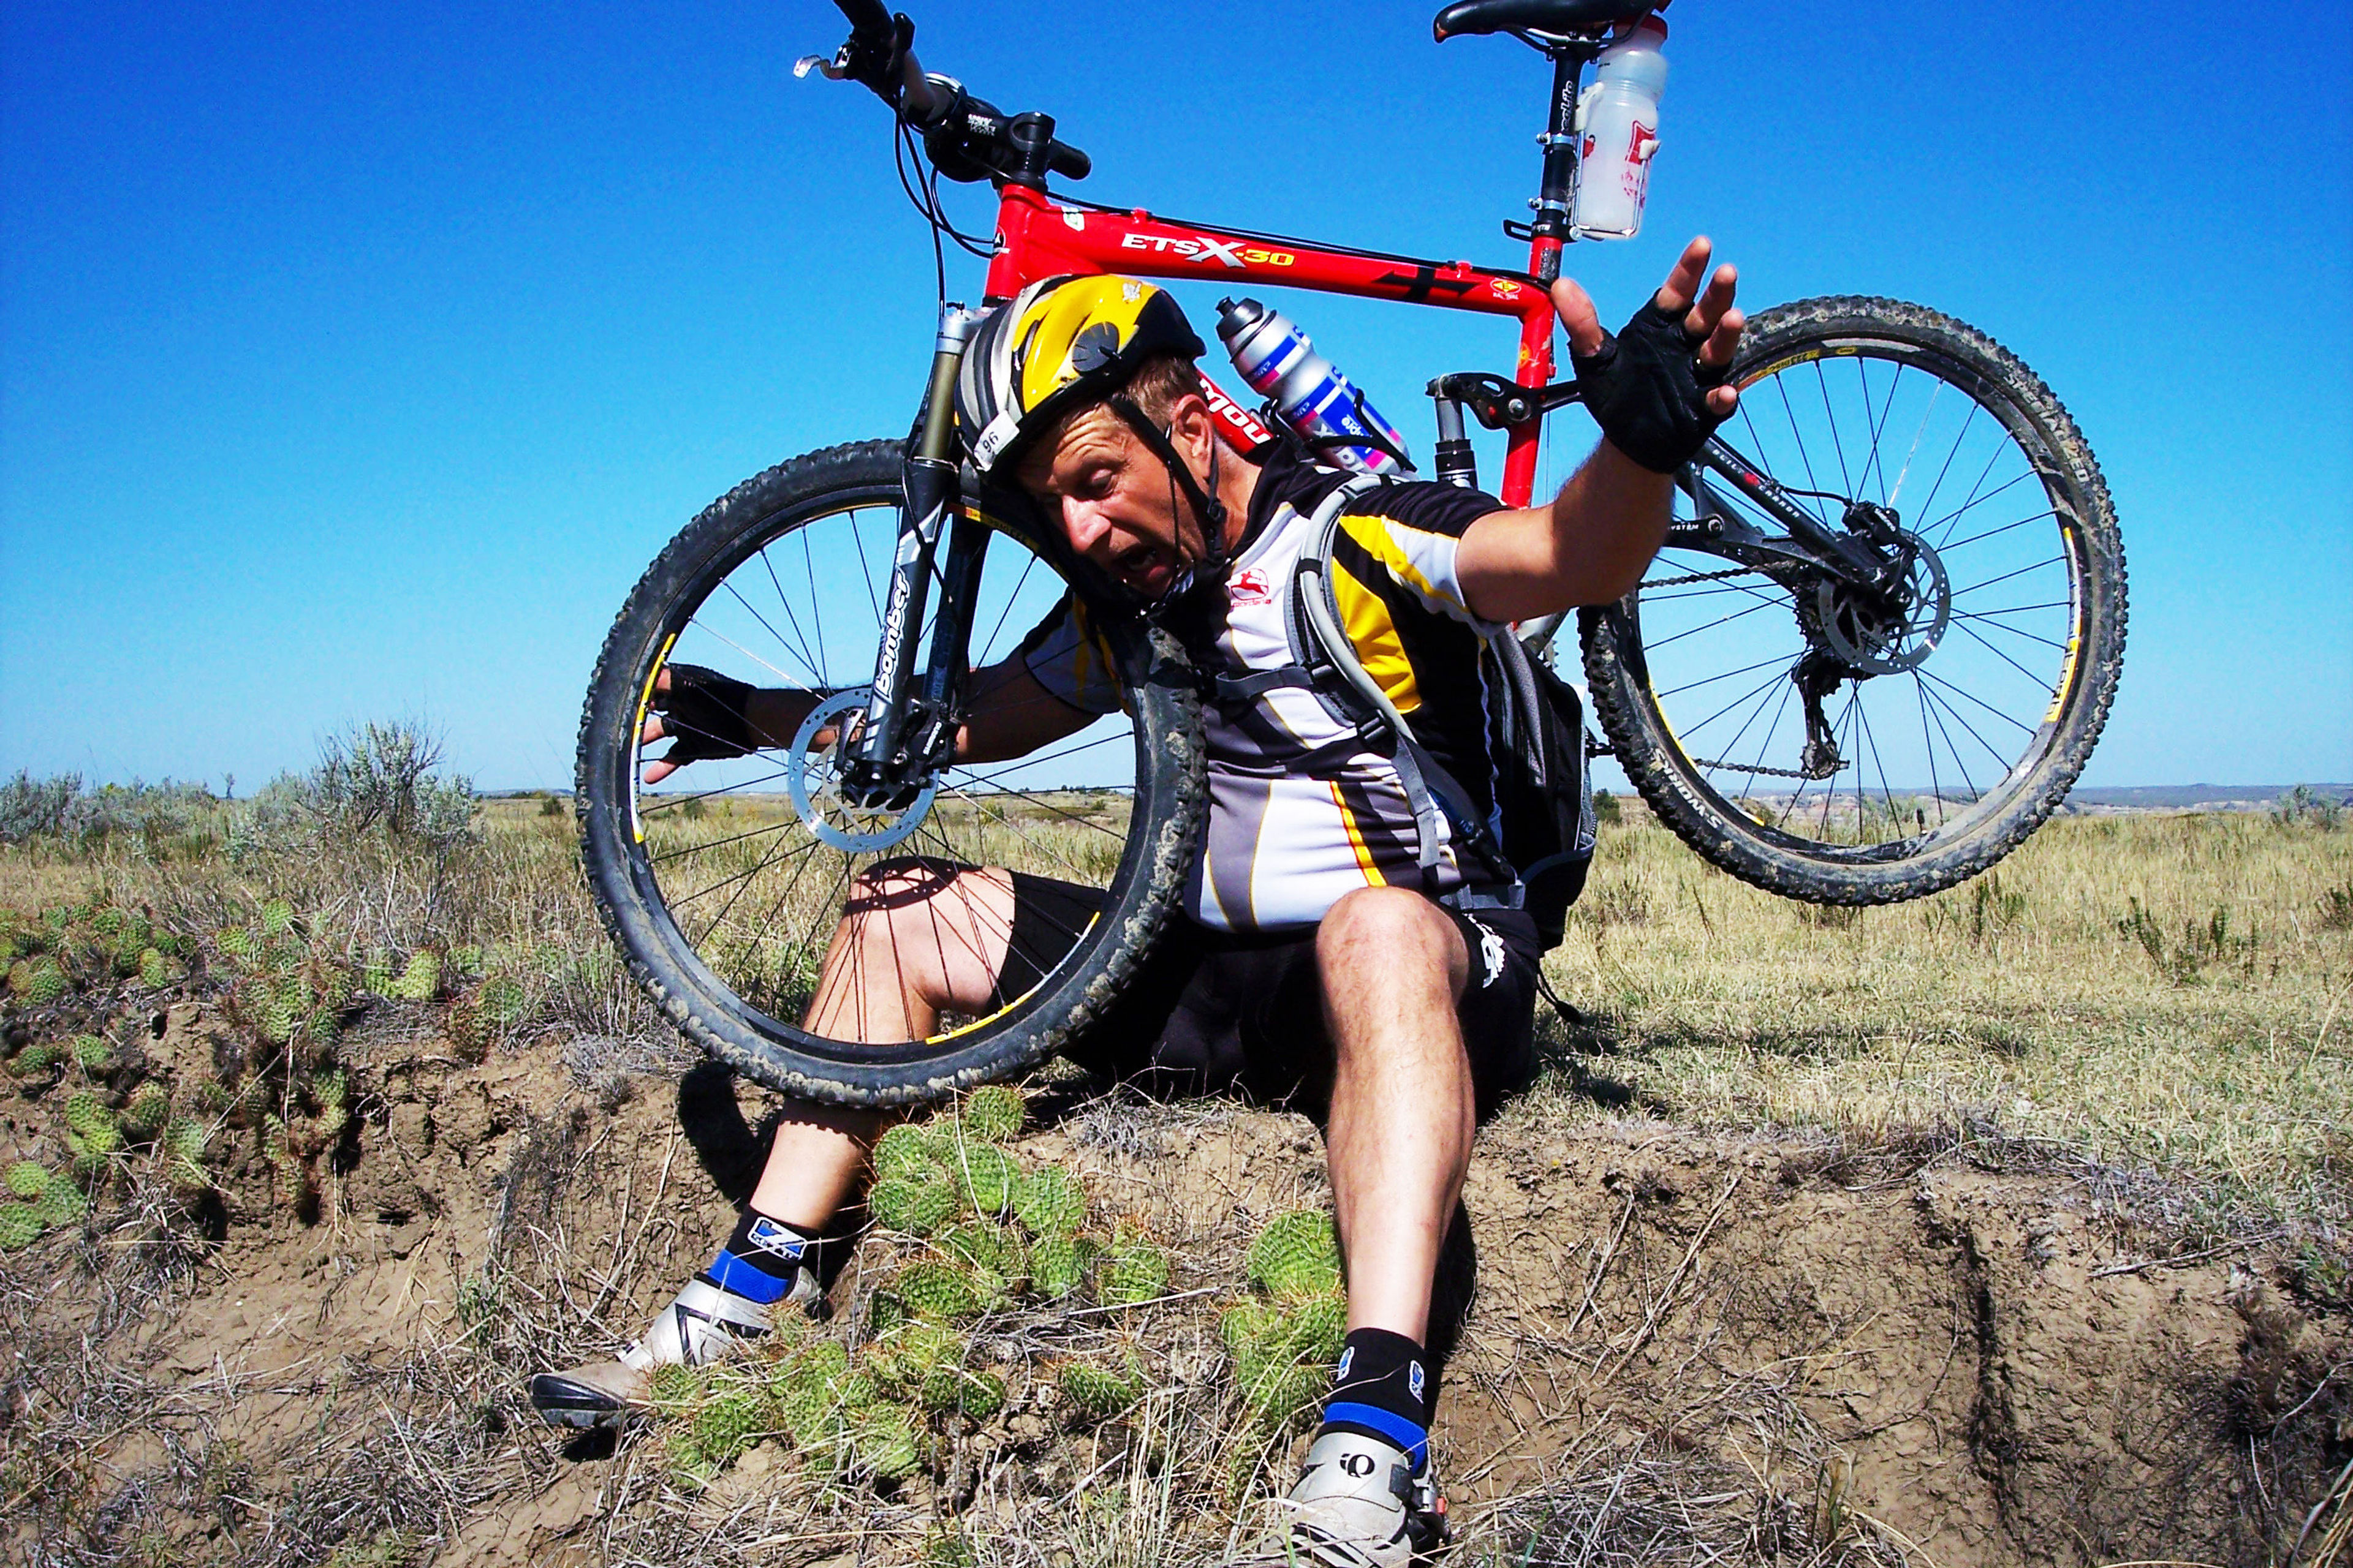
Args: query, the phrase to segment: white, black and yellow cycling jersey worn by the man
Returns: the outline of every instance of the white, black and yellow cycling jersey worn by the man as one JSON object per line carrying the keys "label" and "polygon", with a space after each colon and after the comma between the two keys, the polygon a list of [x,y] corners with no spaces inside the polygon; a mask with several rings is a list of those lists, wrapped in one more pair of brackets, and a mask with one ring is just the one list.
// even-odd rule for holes
{"label": "white, black and yellow cycling jersey worn by the man", "polygon": [[[1172,621],[1209,675],[1247,677],[1297,663],[1292,574],[1313,538],[1308,515],[1348,475],[1292,451],[1266,458],[1224,595]],[[1355,656],[1414,736],[1494,809],[1480,649],[1501,628],[1464,604],[1454,550],[1501,501],[1454,484],[1386,484],[1341,512],[1332,588]],[[1113,712],[1118,686],[1085,611],[1056,607],[1021,644],[1031,675],[1085,712]],[[1464,886],[1452,842],[1428,877],[1417,867],[1414,811],[1388,757],[1301,686],[1205,703],[1209,823],[1186,907],[1212,931],[1311,926],[1360,886]],[[1447,835],[1452,837],[1452,835]]]}

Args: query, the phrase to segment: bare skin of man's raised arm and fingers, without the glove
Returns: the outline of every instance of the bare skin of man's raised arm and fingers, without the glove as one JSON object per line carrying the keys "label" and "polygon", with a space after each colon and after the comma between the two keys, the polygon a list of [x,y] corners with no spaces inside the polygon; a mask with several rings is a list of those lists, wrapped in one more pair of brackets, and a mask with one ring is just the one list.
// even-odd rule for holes
{"label": "bare skin of man's raised arm and fingers, without the glove", "polygon": [[[1685,331],[1699,343],[1704,364],[1729,364],[1741,339],[1741,313],[1732,308],[1734,273],[1715,268],[1706,292],[1708,242],[1692,240],[1666,275],[1657,303],[1687,310]],[[1591,355],[1602,346],[1593,301],[1569,280],[1553,284],[1553,308],[1567,327],[1569,346]],[[1739,393],[1708,393],[1715,414],[1729,414]],[[1607,604],[1642,581],[1642,567],[1666,538],[1673,480],[1649,473],[1602,442],[1569,475],[1551,505],[1487,512],[1461,538],[1454,557],[1471,614],[1485,621],[1527,621],[1572,604]]]}

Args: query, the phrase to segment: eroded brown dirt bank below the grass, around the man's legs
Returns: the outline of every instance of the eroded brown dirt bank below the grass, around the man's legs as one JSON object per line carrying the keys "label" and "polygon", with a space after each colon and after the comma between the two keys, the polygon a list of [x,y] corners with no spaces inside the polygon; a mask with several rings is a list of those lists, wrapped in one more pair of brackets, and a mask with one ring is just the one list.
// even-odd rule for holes
{"label": "eroded brown dirt bank below the grass, around the man's legs", "polygon": [[[158,1070],[195,1070],[224,1025],[179,1001],[148,1034]],[[468,1065],[379,1030],[344,1060],[355,1117],[311,1222],[254,1157],[193,1218],[99,1204],[0,1265],[0,1556],[847,1568],[918,1561],[951,1500],[1019,1523],[1092,1472],[1148,1505],[1151,1467],[1106,1472],[1104,1434],[1019,1415],[1002,1474],[821,1509],[774,1443],[689,1493],[642,1441],[539,1429],[522,1380],[612,1349],[706,1260],[769,1095],[708,1067],[584,1086],[558,1039]],[[1169,1300],[1125,1333],[1214,1401],[1242,1246],[1322,1199],[1315,1128],[1071,1091],[1033,1112],[1024,1157],[1169,1246]],[[54,1161],[54,1121],[0,1100],[0,1159]],[[1694,1133],[1553,1088],[1482,1131],[1466,1211],[1438,1335],[1454,1561],[2235,1566],[2344,1535],[2348,1324],[2261,1248],[2184,1251],[2181,1197],[2148,1178],[1988,1131]],[[864,1288],[859,1265],[835,1281],[845,1324]],[[1118,1561],[1228,1540],[1214,1509],[1158,1519]],[[1021,1556],[1014,1523],[981,1561],[1089,1561]]]}

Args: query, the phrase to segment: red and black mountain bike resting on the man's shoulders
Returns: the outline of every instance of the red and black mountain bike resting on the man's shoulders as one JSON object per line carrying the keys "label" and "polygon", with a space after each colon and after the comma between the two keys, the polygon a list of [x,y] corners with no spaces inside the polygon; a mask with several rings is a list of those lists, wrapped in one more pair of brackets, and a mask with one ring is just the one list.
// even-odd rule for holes
{"label": "red and black mountain bike resting on the man's shoulders", "polygon": [[[748,1077],[894,1105],[1002,1077],[1101,1016],[1174,907],[1205,811],[1184,649],[1016,508],[967,494],[953,376],[974,313],[946,247],[988,263],[991,308],[1064,273],[1212,277],[1492,315],[1513,376],[1428,383],[1461,473],[1466,418],[1501,430],[1506,505],[1534,494],[1553,381],[1546,284],[1572,240],[1577,101],[1628,0],[1459,0],[1440,40],[1511,35],[1551,63],[1527,268],[1482,268],[1191,223],[1049,190],[1089,158],[1045,113],[1007,115],[925,73],[913,24],[838,0],[852,33],[802,61],[894,113],[899,176],[932,223],[941,329],[906,440],[791,458],[699,515],[605,639],[581,715],[576,809],[602,914],[668,1016]],[[991,181],[993,240],[939,181]],[[1739,414],[1678,480],[1666,548],[1577,630],[1591,710],[1652,811],[1734,877],[1819,903],[1889,903],[1993,865],[2064,799],[2115,691],[2125,562],[2099,465],[2057,397],[1986,334],[1887,299],[1755,313]],[[1240,449],[1268,425],[1202,376]],[[974,672],[1073,602],[1122,712],[1038,755],[955,752]],[[1555,618],[1558,623],[1558,618]],[[1546,644],[1553,623],[1520,628]],[[781,693],[732,759],[647,778],[645,729],[725,672]],[[685,686],[682,686],[685,684]],[[666,696],[668,693],[668,696]],[[882,877],[885,867],[889,877]],[[845,907],[906,879],[1012,867],[1096,889],[1056,952],[927,1039],[859,1041],[805,1013]],[[896,882],[892,882],[896,879]]]}

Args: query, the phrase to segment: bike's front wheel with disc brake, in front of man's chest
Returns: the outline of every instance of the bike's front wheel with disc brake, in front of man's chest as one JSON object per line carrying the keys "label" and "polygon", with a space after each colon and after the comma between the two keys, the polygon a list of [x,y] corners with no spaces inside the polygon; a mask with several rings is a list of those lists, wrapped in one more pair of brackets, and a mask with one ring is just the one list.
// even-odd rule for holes
{"label": "bike's front wheel with disc brake, in front of man's chest", "polygon": [[[951,764],[882,806],[842,792],[828,715],[847,722],[864,708],[875,670],[901,458],[896,442],[814,451],[687,524],[605,637],[579,736],[581,851],[631,973],[715,1058],[838,1105],[932,1100],[1019,1072],[1087,1027],[1179,896],[1202,802],[1184,656],[1165,632],[1108,611],[1087,625],[1118,672],[1122,712],[1014,762]],[[1012,536],[993,536],[984,559],[969,668],[1012,656],[1026,632],[1068,614],[1071,595],[1085,607]],[[936,628],[915,630],[927,651]],[[807,717],[788,743],[649,785],[654,752],[640,733],[664,670],[680,665],[791,691]],[[873,903],[866,877],[901,877],[899,865],[1005,867],[1080,893],[1024,938],[1016,980],[969,1016],[941,1016],[925,1039],[809,1027],[842,1018],[812,1001],[838,961],[845,907],[861,889]]]}

